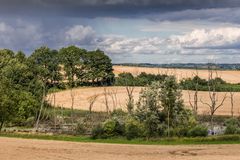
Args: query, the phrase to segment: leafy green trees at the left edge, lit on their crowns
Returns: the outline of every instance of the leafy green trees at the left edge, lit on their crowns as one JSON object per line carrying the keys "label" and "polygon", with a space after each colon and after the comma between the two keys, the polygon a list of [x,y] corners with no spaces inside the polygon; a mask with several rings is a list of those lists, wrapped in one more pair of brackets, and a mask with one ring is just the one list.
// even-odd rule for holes
{"label": "leafy green trees at the left edge, lit on their crowns", "polygon": [[[28,60],[19,52],[0,50],[0,125],[23,125],[35,116],[41,95],[40,83]],[[0,128],[1,129],[1,128]]]}

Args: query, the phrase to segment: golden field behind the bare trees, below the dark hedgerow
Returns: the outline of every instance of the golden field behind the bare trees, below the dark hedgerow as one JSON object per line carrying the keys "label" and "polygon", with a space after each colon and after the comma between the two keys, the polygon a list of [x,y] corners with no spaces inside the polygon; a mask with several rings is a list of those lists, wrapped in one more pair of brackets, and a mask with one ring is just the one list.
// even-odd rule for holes
{"label": "golden field behind the bare trees, below the dark hedgerow", "polygon": [[[134,88],[134,99],[135,103],[138,101],[139,93],[142,87]],[[122,108],[126,110],[127,102],[127,91],[125,87],[83,87],[76,88],[72,91],[74,97],[74,109],[88,110],[91,102],[91,98],[96,96],[96,101],[93,103],[93,111],[106,111],[107,106],[110,110]],[[185,105],[190,108],[189,104],[189,93],[193,98],[193,92],[183,91],[183,100]],[[219,104],[225,92],[218,93]],[[209,114],[209,107],[204,105],[202,102],[210,103],[208,92],[199,92],[199,114]],[[234,94],[234,114],[240,115],[240,93]],[[48,101],[53,105],[64,108],[71,108],[71,91],[61,91],[55,93],[55,103],[53,100],[53,94],[48,96]],[[193,99],[191,99],[193,101]],[[227,93],[227,98],[223,103],[223,106],[216,112],[217,115],[230,115],[231,114],[231,101],[230,94]]]}

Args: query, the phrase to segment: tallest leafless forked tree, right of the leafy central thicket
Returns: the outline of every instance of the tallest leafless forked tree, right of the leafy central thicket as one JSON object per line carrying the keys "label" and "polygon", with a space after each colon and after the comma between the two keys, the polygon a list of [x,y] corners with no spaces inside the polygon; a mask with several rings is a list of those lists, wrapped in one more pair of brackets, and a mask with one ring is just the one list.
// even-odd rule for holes
{"label": "tallest leafless forked tree, right of the leafy central thicket", "polygon": [[[215,73],[215,76],[214,76],[214,73]],[[217,84],[218,82],[215,80],[215,78],[218,78],[217,70],[216,69],[213,70],[213,67],[209,66],[208,74],[209,74],[208,75],[208,95],[209,95],[209,98],[210,98],[210,103],[203,102],[202,100],[201,100],[201,102],[204,105],[207,105],[210,109],[210,119],[211,119],[210,124],[211,124],[211,131],[213,132],[213,129],[214,129],[214,121],[213,121],[214,120],[214,114],[221,106],[223,106],[223,103],[227,98],[227,93],[225,93],[223,95],[223,98],[221,100],[219,100],[218,92],[216,92],[216,87],[218,85]]]}

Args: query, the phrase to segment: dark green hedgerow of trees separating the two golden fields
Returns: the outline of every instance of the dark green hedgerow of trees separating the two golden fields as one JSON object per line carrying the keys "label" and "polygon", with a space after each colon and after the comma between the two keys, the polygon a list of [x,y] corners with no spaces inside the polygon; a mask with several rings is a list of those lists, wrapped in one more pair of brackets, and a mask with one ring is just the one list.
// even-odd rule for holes
{"label": "dark green hedgerow of trees separating the two golden fields", "polygon": [[[168,75],[165,74],[147,74],[142,72],[137,76],[133,76],[131,73],[121,73],[115,78],[115,85],[117,86],[147,86],[154,81],[163,82]],[[202,79],[198,76],[193,78],[187,78],[180,81],[180,86],[184,90],[199,90],[199,91],[209,91],[212,90],[211,85],[214,86],[217,92],[240,92],[240,84],[230,84],[225,82],[223,79],[217,77],[210,81]],[[210,86],[210,87],[209,87]],[[196,88],[197,87],[197,88]]]}

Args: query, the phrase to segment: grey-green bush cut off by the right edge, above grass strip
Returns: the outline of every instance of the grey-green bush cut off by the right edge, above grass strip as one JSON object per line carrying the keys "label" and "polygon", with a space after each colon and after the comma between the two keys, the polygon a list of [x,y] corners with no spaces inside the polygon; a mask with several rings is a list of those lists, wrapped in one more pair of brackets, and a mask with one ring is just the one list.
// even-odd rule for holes
{"label": "grey-green bush cut off by the right edge, above grass strip", "polygon": [[224,134],[239,134],[240,133],[240,124],[238,119],[230,118],[227,119],[225,122],[226,129]]}

